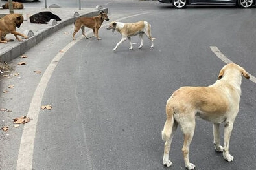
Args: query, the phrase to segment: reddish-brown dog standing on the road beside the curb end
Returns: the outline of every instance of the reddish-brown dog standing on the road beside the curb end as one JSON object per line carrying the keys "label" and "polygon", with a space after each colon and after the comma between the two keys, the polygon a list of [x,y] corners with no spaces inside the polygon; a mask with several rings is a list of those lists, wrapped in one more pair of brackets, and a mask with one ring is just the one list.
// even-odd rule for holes
{"label": "reddish-brown dog standing on the road beside the curb end", "polygon": [[[84,26],[91,28],[93,30],[94,36],[96,36],[97,39],[100,40],[101,38],[99,37],[99,28],[101,27],[104,20],[106,21],[110,20],[108,19],[108,15],[105,12],[100,12],[99,16],[94,16],[94,17],[78,17],[78,19],[76,19],[75,21],[75,28],[72,34],[73,40],[75,40],[75,34],[76,32],[78,32],[80,28],[82,30],[82,34],[84,35],[84,37],[86,37],[86,39],[89,38],[86,36]],[[94,37],[94,36],[91,36],[91,37]]]}

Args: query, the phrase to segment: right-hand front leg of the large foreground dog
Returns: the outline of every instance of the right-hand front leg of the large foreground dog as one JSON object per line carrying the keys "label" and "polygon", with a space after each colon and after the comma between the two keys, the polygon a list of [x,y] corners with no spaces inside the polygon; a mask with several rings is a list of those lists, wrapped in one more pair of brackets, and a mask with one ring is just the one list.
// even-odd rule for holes
{"label": "right-hand front leg of the large foreground dog", "polygon": [[224,125],[224,149],[223,149],[223,157],[224,160],[227,160],[228,162],[233,161],[233,156],[229,154],[229,140],[231,136],[231,132],[233,129],[233,123],[226,121]]}

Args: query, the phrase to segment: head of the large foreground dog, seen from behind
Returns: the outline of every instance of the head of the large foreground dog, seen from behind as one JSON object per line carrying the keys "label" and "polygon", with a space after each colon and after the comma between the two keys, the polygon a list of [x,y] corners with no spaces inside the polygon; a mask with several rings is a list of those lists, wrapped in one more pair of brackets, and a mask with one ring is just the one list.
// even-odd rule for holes
{"label": "head of the large foreground dog, seen from behind", "polygon": [[224,65],[224,67],[220,70],[220,74],[218,74],[218,79],[221,79],[226,72],[240,72],[240,74],[245,78],[250,78],[248,72],[246,72],[244,68],[240,67],[235,63],[229,63],[227,65]]}

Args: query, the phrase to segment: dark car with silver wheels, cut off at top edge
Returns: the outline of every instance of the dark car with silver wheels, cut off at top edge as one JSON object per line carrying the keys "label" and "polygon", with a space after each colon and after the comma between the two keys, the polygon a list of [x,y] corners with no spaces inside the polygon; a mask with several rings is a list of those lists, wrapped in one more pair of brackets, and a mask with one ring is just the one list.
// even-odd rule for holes
{"label": "dark car with silver wheels, cut off at top edge", "polygon": [[160,3],[172,3],[174,8],[185,8],[186,5],[237,5],[240,8],[251,8],[256,0],[158,0]]}

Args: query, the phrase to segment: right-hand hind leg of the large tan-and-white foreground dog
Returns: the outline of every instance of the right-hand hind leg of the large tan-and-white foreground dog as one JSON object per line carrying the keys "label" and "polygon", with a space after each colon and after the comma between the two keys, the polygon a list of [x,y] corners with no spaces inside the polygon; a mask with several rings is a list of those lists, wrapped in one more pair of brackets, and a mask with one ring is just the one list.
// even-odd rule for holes
{"label": "right-hand hind leg of the large tan-and-white foreground dog", "polygon": [[183,131],[183,134],[184,134],[184,143],[182,147],[182,152],[183,152],[185,167],[189,170],[194,169],[196,167],[194,164],[189,162],[189,145],[191,144],[192,138],[194,136],[194,129],[196,126],[196,121],[193,119],[194,118],[191,118],[190,116],[187,116],[187,117],[184,116],[181,118],[182,122],[180,122],[181,131]]}

